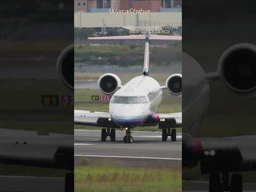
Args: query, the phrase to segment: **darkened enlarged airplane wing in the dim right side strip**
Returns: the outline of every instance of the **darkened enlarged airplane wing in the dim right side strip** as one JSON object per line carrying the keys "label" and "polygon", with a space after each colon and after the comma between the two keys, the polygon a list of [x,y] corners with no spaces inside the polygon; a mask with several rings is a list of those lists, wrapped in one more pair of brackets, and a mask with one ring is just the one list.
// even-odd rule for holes
{"label": "darkened enlarged airplane wing in the dim right side strip", "polygon": [[[193,138],[201,143],[202,172],[214,169],[231,171],[256,170],[256,135],[228,138]],[[198,146],[198,145],[197,145]],[[239,169],[239,170],[237,170]]]}

